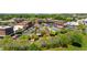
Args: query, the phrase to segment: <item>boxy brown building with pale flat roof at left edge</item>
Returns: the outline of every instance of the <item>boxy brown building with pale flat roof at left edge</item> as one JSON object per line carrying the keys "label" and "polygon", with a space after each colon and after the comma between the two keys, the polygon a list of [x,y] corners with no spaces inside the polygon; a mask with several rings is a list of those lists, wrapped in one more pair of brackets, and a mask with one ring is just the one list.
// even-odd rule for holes
{"label": "boxy brown building with pale flat roof at left edge", "polygon": [[12,26],[0,26],[0,36],[11,35],[13,34],[13,28]]}

